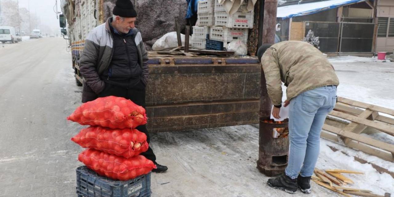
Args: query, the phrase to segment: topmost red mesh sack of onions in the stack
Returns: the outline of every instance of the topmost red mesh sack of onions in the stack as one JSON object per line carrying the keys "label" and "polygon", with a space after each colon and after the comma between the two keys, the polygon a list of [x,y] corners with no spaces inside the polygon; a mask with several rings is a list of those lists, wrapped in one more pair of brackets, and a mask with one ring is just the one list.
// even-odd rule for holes
{"label": "topmost red mesh sack of onions in the stack", "polygon": [[81,125],[136,128],[147,123],[145,109],[123,97],[101,97],[86,102],[67,117]]}

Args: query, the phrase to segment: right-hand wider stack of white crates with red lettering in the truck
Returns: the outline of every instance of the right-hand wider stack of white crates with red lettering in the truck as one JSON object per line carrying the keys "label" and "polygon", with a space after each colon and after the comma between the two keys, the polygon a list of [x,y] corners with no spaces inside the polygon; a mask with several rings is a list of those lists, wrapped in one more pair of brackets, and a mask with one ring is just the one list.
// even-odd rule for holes
{"label": "right-hand wider stack of white crates with red lettering in the truck", "polygon": [[223,5],[219,4],[217,0],[214,2],[214,26],[210,28],[210,39],[222,41],[223,47],[231,41],[240,39],[247,44],[249,28],[253,28],[254,13],[243,12],[241,5],[236,13],[229,15]]}

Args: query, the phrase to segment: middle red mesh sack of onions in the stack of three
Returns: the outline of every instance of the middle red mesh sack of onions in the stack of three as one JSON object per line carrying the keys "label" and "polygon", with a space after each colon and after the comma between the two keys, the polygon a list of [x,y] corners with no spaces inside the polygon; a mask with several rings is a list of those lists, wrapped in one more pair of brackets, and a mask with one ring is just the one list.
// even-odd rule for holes
{"label": "middle red mesh sack of onions in the stack of three", "polygon": [[109,154],[130,158],[149,148],[147,136],[137,129],[108,129],[89,126],[82,129],[72,141],[84,148],[96,149]]}

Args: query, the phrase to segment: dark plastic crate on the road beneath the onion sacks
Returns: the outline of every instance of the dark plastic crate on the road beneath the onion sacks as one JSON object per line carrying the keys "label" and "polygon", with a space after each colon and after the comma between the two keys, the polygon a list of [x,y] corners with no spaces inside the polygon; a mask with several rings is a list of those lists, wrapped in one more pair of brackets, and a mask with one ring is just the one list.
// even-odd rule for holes
{"label": "dark plastic crate on the road beneath the onion sacks", "polygon": [[150,197],[151,173],[120,181],[97,175],[85,165],[76,169],[78,197]]}

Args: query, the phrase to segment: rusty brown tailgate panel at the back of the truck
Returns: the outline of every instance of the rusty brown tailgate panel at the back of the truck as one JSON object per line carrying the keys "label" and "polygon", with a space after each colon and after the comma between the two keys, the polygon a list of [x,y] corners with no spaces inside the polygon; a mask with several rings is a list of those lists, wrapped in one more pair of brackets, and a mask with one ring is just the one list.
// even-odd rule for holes
{"label": "rusty brown tailgate panel at the back of the truck", "polygon": [[149,65],[147,128],[163,132],[258,123],[260,67]]}

